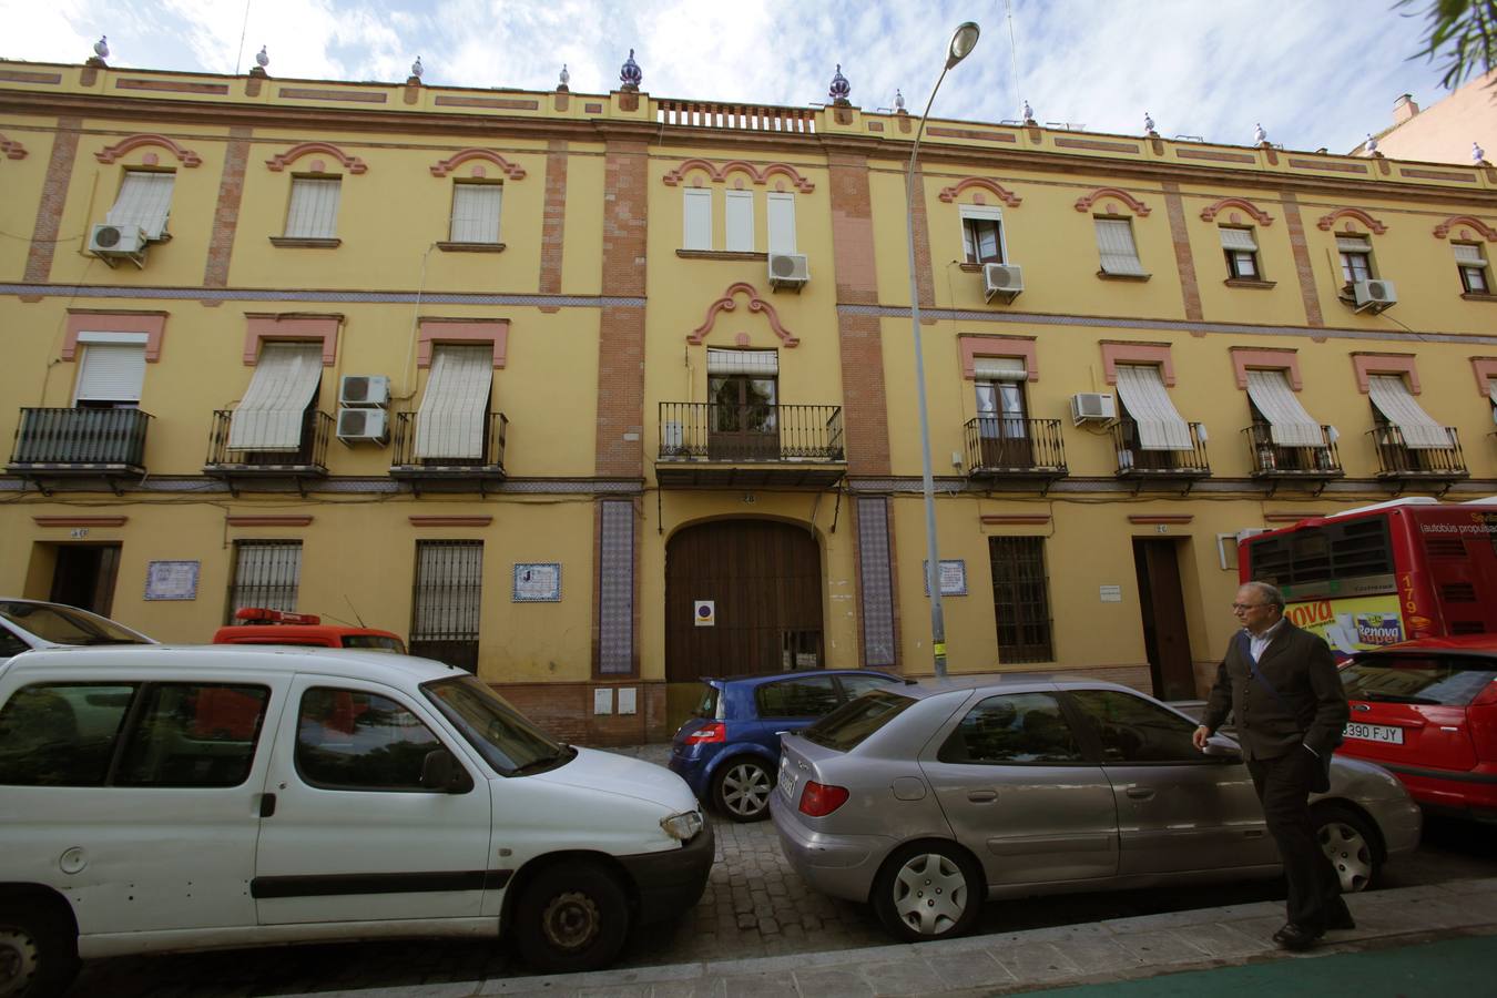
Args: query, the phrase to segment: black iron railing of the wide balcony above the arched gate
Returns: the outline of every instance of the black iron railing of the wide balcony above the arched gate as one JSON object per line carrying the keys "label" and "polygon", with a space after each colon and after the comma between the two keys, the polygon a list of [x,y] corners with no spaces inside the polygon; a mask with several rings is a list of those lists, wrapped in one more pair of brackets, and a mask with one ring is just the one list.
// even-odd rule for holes
{"label": "black iron railing of the wide balcony above the arched gate", "polygon": [[846,461],[841,405],[660,402],[662,461]]}

